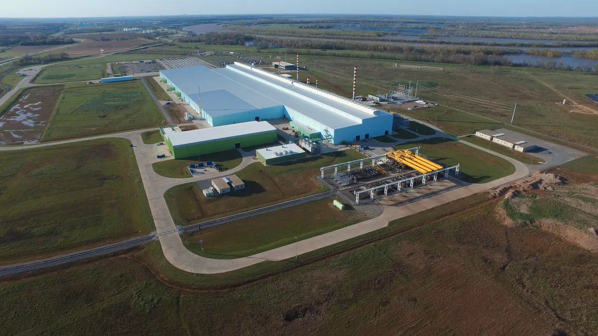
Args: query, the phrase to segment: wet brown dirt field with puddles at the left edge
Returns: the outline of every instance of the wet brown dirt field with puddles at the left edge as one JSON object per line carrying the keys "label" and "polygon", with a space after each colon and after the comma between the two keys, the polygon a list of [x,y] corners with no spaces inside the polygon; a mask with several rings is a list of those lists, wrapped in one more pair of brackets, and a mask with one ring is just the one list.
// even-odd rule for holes
{"label": "wet brown dirt field with puddles at the left edge", "polygon": [[0,116],[0,144],[39,142],[64,86],[28,88]]}

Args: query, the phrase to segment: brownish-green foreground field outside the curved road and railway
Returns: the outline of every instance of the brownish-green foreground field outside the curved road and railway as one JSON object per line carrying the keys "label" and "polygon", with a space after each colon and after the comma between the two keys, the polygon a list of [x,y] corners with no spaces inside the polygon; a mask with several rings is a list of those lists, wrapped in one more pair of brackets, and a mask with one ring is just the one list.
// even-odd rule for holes
{"label": "brownish-green foreground field outside the curved road and railway", "polygon": [[[598,333],[598,256],[504,227],[495,205],[469,197],[318,251],[332,253],[324,259],[210,276],[175,270],[152,242],[129,258],[5,278],[0,323],[14,334]],[[266,267],[288,271],[245,282]]]}

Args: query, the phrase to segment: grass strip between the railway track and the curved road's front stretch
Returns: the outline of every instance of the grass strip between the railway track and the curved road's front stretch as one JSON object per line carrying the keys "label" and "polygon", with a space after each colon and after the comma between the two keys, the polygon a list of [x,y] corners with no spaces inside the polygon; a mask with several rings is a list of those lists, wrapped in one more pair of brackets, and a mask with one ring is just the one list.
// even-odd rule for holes
{"label": "grass strip between the railway track and the curved road's front stretch", "polygon": [[[190,251],[208,258],[228,259],[289,245],[367,219],[355,209],[339,210],[335,198],[324,198],[267,212],[181,236]],[[337,198],[338,199],[338,198]],[[340,200],[340,199],[339,199]],[[200,243],[199,241],[203,242]],[[202,254],[202,244],[204,253]]]}

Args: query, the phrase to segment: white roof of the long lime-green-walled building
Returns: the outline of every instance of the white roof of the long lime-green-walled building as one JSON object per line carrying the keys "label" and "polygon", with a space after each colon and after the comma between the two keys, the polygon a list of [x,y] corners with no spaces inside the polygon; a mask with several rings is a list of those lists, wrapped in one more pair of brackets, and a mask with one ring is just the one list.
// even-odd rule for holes
{"label": "white roof of the long lime-green-walled building", "polygon": [[172,143],[172,146],[176,147],[270,131],[276,132],[276,128],[270,125],[267,121],[249,121],[248,123],[230,124],[210,127],[208,129],[172,133],[168,135],[168,139],[170,140],[170,143]]}

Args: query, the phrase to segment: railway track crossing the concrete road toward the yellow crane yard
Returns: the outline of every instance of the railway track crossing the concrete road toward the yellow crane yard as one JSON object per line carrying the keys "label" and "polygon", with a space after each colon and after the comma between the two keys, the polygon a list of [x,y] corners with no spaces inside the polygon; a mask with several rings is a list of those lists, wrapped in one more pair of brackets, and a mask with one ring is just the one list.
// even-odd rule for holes
{"label": "railway track crossing the concrete road toward the yellow crane yard", "polygon": [[270,212],[273,210],[279,210],[279,209],[283,209],[285,207],[305,203],[307,201],[313,201],[313,200],[318,200],[320,198],[324,198],[327,196],[332,196],[333,194],[337,193],[337,191],[338,190],[326,191],[325,193],[305,196],[305,197],[297,198],[295,200],[289,200],[289,201],[285,201],[282,203],[261,207],[260,209],[249,210],[246,212],[236,213],[234,215],[225,216],[222,218],[211,219],[209,221],[201,222],[198,224],[188,225],[187,227],[181,227],[181,228],[178,228],[177,230],[166,231],[166,232],[159,233],[159,234],[152,233],[152,234],[148,234],[143,237],[136,237],[134,239],[125,240],[124,242],[103,245],[103,246],[99,246],[97,248],[91,248],[91,249],[87,249],[84,251],[78,251],[78,252],[72,252],[72,253],[63,254],[63,255],[52,256],[50,258],[39,259],[39,260],[35,260],[35,261],[30,261],[30,262],[21,262],[19,264],[0,266],[0,276],[4,276],[7,274],[20,273],[20,272],[24,272],[24,271],[37,270],[39,268],[66,264],[66,262],[77,261],[77,260],[89,258],[91,256],[97,256],[97,255],[103,255],[106,253],[121,251],[124,249],[132,248],[133,246],[138,246],[138,245],[150,242],[151,240],[154,240],[157,237],[166,236],[167,234],[173,234],[173,233],[181,234],[181,233],[185,233],[187,231],[200,230],[200,228],[213,227],[215,225],[224,224],[226,222],[234,221],[236,219],[255,216],[255,215],[259,215],[261,213]]}

